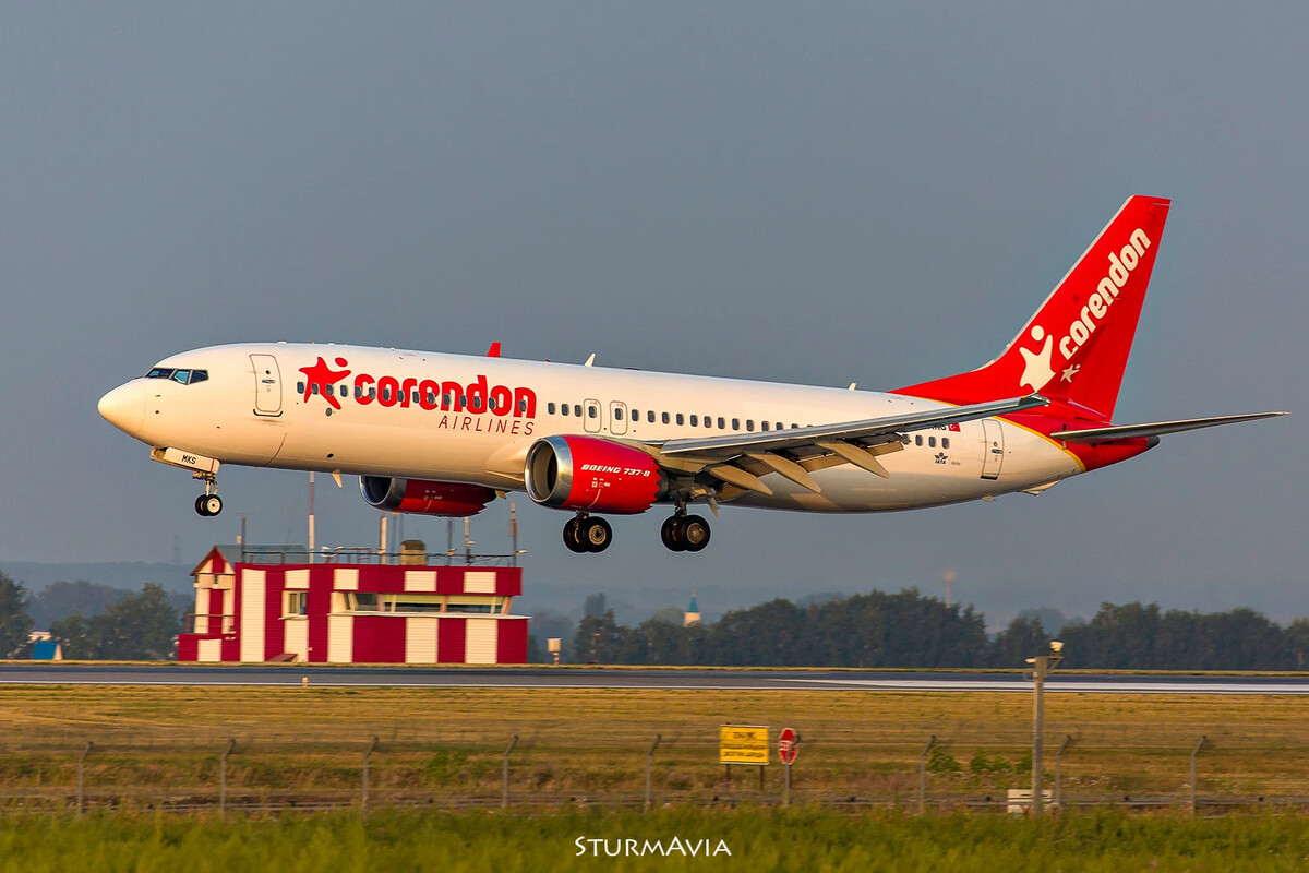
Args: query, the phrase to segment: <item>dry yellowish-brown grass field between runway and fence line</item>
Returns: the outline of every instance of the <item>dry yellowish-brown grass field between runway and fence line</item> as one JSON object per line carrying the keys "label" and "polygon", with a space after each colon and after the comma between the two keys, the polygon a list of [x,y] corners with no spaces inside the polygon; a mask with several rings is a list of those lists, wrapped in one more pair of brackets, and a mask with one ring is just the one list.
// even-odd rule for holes
{"label": "dry yellowish-brown grass field between runway and fence line", "polygon": [[[0,694],[0,804],[20,794],[65,802],[86,739],[96,742],[86,759],[92,805],[215,798],[229,737],[233,800],[300,792],[348,801],[372,736],[381,741],[370,764],[378,801],[499,797],[513,734],[517,801],[597,800],[641,791],[656,733],[656,797],[702,802],[724,793],[724,722],[801,733],[800,800],[910,804],[933,734],[929,793],[1003,797],[1029,780],[1030,711],[1030,695],[994,692],[9,687]],[[1204,734],[1212,745],[1199,758],[1202,796],[1304,797],[1304,699],[1278,695],[1050,695],[1045,770],[1052,774],[1072,734],[1062,767],[1069,798],[1182,797]],[[776,796],[781,768],[767,770]],[[757,785],[755,774],[738,771],[728,793],[749,797]]]}

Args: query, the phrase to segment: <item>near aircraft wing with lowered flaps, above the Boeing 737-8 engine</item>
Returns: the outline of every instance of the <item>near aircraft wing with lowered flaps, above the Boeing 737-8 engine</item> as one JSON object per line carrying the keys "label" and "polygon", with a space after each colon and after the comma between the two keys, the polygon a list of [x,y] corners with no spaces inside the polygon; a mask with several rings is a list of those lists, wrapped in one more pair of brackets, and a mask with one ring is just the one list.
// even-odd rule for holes
{"label": "near aircraft wing with lowered flaps, above the Boeing 737-8 engine", "polygon": [[877,455],[903,449],[905,444],[901,441],[903,433],[1020,412],[1047,403],[1050,401],[1039,394],[1030,394],[1008,401],[923,410],[878,419],[639,445],[661,466],[674,472],[690,475],[707,472],[737,488],[766,495],[772,493],[772,490],[763,484],[759,476],[776,472],[818,492],[819,487],[809,474],[840,463],[853,463],[874,475],[888,478],[890,474],[877,461]]}

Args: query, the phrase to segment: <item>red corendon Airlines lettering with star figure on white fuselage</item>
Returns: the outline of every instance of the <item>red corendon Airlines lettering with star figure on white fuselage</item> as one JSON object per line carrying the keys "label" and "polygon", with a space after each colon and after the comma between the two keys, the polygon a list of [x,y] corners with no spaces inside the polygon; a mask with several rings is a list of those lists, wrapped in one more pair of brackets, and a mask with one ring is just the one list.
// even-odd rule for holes
{"label": "red corendon Airlines lettering with star figure on white fuselage", "polygon": [[[347,366],[344,357],[335,359],[336,366]],[[305,374],[304,399],[321,395],[334,410],[340,410],[340,401],[336,399],[336,383],[348,378],[350,369],[334,370],[322,357],[313,366],[301,366]],[[473,382],[465,385],[456,381],[419,380],[415,377],[372,376],[357,373],[352,381],[353,391],[340,397],[351,397],[359,406],[391,407],[399,406],[440,412],[463,412],[466,415],[445,415],[437,421],[437,428],[457,431],[496,432],[496,433],[524,433],[530,436],[531,421],[505,421],[497,420],[483,425],[480,416],[490,415],[499,419],[534,419],[537,418],[537,393],[530,387],[507,387],[504,385],[491,385],[486,376],[478,376]]]}

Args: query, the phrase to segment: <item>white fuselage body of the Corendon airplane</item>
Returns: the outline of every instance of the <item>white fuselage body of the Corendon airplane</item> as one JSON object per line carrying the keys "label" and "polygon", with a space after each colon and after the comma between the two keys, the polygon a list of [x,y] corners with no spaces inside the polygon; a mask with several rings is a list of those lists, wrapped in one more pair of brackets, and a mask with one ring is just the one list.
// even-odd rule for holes
{"label": "white fuselage body of the Corendon airplane", "polygon": [[[330,386],[340,408],[313,393],[313,380],[301,372],[315,372],[321,360],[334,376],[347,373]],[[355,346],[217,346],[157,366],[204,370],[208,378],[190,385],[137,378],[106,397],[114,398],[106,418],[152,446],[224,463],[499,491],[522,490],[528,449],[552,435],[649,442],[944,407],[876,391]],[[482,377],[497,408],[459,410],[456,389]],[[382,387],[391,385],[398,394]],[[1038,488],[1083,471],[1058,442],[1004,419],[916,432],[881,462],[889,478],[848,463],[816,471],[821,493],[770,474],[764,482],[772,495],[746,492],[732,503],[812,512],[911,509]]]}

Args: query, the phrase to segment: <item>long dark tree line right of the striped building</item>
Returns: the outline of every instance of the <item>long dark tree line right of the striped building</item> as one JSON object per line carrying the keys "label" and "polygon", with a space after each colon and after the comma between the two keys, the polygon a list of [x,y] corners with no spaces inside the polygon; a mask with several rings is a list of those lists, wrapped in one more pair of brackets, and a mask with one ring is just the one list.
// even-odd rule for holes
{"label": "long dark tree line right of the striped building", "polygon": [[592,610],[564,656],[581,664],[1021,668],[1046,652],[1051,639],[1063,641],[1069,668],[1309,669],[1309,619],[1282,627],[1249,609],[1199,613],[1102,603],[1089,622],[1064,624],[1058,633],[1031,613],[991,636],[973,606],[946,606],[915,589],[806,606],[779,598],[690,627],[665,615],[626,627],[613,610]]}

